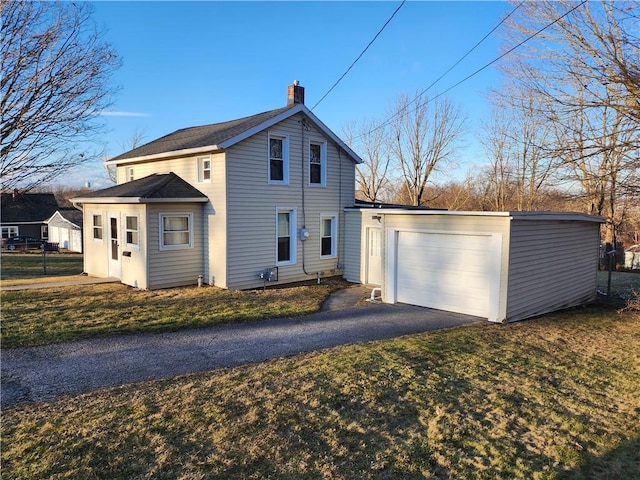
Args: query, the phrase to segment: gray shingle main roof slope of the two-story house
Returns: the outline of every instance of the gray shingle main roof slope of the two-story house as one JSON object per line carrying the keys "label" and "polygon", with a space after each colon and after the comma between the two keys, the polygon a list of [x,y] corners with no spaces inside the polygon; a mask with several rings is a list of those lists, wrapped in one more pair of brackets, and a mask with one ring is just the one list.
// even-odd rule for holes
{"label": "gray shingle main roof slope of the two-story house", "polygon": [[164,137],[153,140],[141,147],[118,155],[112,158],[115,160],[126,160],[128,158],[145,157],[148,155],[157,155],[159,153],[174,152],[186,150],[189,148],[209,147],[219,145],[225,140],[229,140],[261,123],[280,115],[281,113],[295,107],[287,106],[268,112],[259,113],[250,117],[230,120],[228,122],[214,123],[211,125],[202,125],[199,127],[189,127],[176,130]]}

